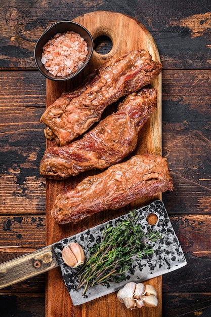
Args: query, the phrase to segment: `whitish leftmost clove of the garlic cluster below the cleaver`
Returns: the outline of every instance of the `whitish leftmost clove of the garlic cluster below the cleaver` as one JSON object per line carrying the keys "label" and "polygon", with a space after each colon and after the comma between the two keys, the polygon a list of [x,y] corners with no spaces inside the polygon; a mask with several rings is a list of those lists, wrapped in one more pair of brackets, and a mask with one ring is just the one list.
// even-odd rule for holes
{"label": "whitish leftmost clove of the garlic cluster below the cleaver", "polygon": [[117,298],[121,303],[124,303],[126,308],[134,309],[136,307],[136,302],[133,297],[136,283],[129,282],[124,285],[124,287],[118,291]]}

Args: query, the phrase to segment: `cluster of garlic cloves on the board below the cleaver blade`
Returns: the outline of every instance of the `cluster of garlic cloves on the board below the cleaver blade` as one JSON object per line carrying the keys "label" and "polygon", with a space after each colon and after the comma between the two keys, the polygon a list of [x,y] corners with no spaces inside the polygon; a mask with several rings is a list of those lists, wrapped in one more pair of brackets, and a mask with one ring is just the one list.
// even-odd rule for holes
{"label": "cluster of garlic cloves on the board below the cleaver blade", "polygon": [[130,282],[118,291],[117,298],[126,308],[156,307],[158,304],[157,292],[149,284]]}

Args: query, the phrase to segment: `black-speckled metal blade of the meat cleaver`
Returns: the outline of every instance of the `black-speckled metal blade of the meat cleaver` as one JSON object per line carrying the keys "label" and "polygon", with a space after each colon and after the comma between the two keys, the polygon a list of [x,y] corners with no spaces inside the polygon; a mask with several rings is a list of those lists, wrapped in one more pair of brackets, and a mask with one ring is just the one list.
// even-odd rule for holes
{"label": "black-speckled metal blade of the meat cleaver", "polygon": [[[64,283],[70,294],[73,305],[80,305],[118,291],[128,282],[140,283],[148,279],[152,279],[155,276],[179,269],[187,264],[178,237],[176,236],[171,221],[168,218],[163,202],[159,200],[154,201],[150,205],[137,209],[137,212],[139,214],[139,218],[136,220],[135,224],[140,224],[144,232],[148,232],[150,229],[158,231],[162,234],[162,237],[157,242],[150,243],[154,249],[152,254],[140,259],[137,258],[134,261],[131,268],[126,273],[126,280],[123,282],[110,283],[108,286],[95,286],[82,296],[83,289],[76,290],[77,279],[74,278],[74,275],[80,268],[71,268],[63,262],[62,249],[65,245],[71,242],[76,242],[81,245],[85,251],[85,256],[87,257],[89,249],[94,244],[99,244],[101,242],[102,231],[107,223],[116,226],[118,221],[126,219],[129,214],[82,231],[53,245],[58,264],[61,268]],[[147,220],[148,216],[152,213],[157,216],[155,224],[149,224]]]}

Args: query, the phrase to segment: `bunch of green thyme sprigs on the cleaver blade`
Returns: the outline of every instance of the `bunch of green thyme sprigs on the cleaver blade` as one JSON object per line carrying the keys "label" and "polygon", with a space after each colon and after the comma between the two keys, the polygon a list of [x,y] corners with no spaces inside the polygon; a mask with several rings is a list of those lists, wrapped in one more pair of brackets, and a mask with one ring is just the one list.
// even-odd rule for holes
{"label": "bunch of green thyme sprigs on the cleaver blade", "polygon": [[128,219],[118,222],[116,227],[107,224],[100,245],[95,244],[89,250],[89,259],[76,274],[77,289],[85,287],[82,295],[94,285],[125,280],[125,272],[134,260],[153,252],[148,243],[157,241],[161,235],[151,230],[145,234],[140,224],[135,225],[138,217],[134,209]]}

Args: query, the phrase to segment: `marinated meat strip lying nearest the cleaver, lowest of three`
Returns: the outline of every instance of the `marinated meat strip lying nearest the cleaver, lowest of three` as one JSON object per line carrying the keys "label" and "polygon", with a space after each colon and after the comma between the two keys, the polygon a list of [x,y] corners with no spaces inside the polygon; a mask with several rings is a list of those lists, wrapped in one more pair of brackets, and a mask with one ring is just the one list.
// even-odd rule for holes
{"label": "marinated meat strip lying nearest the cleaver, lowest of three", "polygon": [[51,214],[60,224],[77,222],[166,190],[173,190],[166,159],[159,155],[135,155],[59,194]]}

